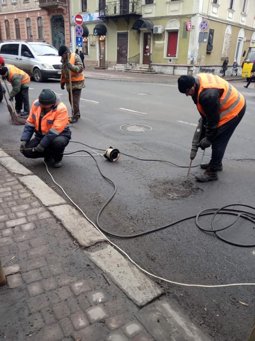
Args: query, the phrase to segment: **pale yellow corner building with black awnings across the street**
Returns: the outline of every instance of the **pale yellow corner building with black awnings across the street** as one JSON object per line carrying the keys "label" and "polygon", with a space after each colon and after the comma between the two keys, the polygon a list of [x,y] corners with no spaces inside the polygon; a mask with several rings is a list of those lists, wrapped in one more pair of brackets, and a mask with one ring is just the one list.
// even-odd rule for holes
{"label": "pale yellow corner building with black awnings across the street", "polygon": [[80,13],[87,68],[143,71],[147,65],[150,72],[175,75],[219,73],[226,57],[229,66],[234,59],[240,65],[243,50],[255,43],[254,0],[70,3],[72,50],[76,48],[74,15]]}

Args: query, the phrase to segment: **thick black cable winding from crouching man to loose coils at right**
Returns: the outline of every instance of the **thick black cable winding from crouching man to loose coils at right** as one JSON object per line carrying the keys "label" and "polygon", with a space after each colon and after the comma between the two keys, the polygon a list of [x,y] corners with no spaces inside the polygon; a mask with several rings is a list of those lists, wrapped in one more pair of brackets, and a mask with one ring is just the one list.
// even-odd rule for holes
{"label": "thick black cable winding from crouching man to loose coils at right", "polygon": [[[81,143],[83,144],[83,143]],[[85,145],[85,144],[84,144]],[[87,146],[87,145],[85,145]],[[89,148],[92,148],[90,146],[87,146]],[[98,150],[103,150],[103,149],[99,149],[99,148],[95,148],[95,149],[98,149]],[[68,153],[64,153],[64,155],[70,155],[70,154],[74,154],[74,153],[78,153],[78,152],[85,152],[87,154],[89,154],[92,159],[96,162],[96,165],[97,165],[97,168],[99,170],[99,173],[101,174],[101,176],[107,180],[108,182],[110,182],[113,187],[114,187],[114,191],[112,193],[112,195],[109,197],[109,199],[106,201],[106,203],[102,206],[102,208],[100,209],[100,211],[98,212],[98,215],[97,215],[97,225],[98,225],[98,228],[105,234],[107,235],[110,235],[112,237],[116,237],[116,238],[122,238],[122,239],[130,239],[130,238],[135,238],[135,237],[140,237],[140,236],[144,236],[144,235],[148,235],[150,233],[153,233],[153,232],[157,232],[157,231],[160,231],[164,228],[167,228],[167,227],[170,227],[170,226],[173,226],[173,225],[176,225],[178,223],[181,223],[185,220],[190,220],[190,219],[194,219],[195,218],[195,223],[197,225],[197,227],[203,231],[203,232],[209,232],[209,233],[214,233],[217,238],[219,238],[220,240],[228,243],[228,244],[231,244],[231,245],[234,245],[234,246],[239,246],[239,247],[254,247],[255,246],[255,243],[254,244],[242,244],[242,243],[236,243],[236,242],[232,242],[230,240],[227,240],[226,238],[223,238],[222,236],[220,236],[217,232],[220,232],[220,231],[224,231],[230,227],[232,227],[237,221],[239,218],[243,218],[245,220],[249,220],[251,221],[253,224],[255,224],[255,213],[251,213],[249,211],[243,211],[243,210],[237,210],[237,209],[230,209],[229,207],[233,207],[233,206],[242,206],[242,207],[247,207],[247,208],[250,208],[252,210],[255,211],[255,207],[253,206],[249,206],[249,205],[244,205],[244,204],[231,204],[231,205],[227,205],[227,206],[223,206],[221,208],[209,208],[209,209],[205,209],[205,210],[202,210],[200,211],[198,214],[196,215],[193,215],[193,216],[189,216],[189,217],[185,217],[185,218],[182,218],[182,219],[179,219],[179,220],[176,220],[170,224],[167,224],[167,225],[164,225],[164,226],[160,226],[160,227],[157,227],[157,228],[154,228],[154,229],[150,229],[148,231],[145,231],[145,232],[141,232],[141,233],[137,233],[137,234],[132,234],[132,235],[118,235],[118,234],[115,234],[115,233],[112,233],[112,232],[109,232],[107,230],[105,230],[99,223],[99,218],[103,212],[103,210],[105,209],[105,207],[112,201],[116,191],[117,191],[117,187],[116,187],[116,184],[113,180],[107,178],[100,170],[100,167],[98,165],[98,162],[97,160],[94,158],[94,156],[88,152],[87,150],[77,150],[77,151],[74,151],[74,152],[68,152]],[[226,209],[228,208],[228,209]],[[206,229],[206,228],[203,228],[200,224],[199,224],[199,218],[202,217],[202,216],[207,216],[207,215],[213,215],[212,218],[211,218],[211,224],[210,224],[210,229]],[[228,226],[225,226],[225,227],[222,227],[222,228],[218,228],[216,229],[215,228],[215,218],[217,216],[217,214],[228,214],[228,215],[233,215],[233,216],[236,216],[236,219],[233,223],[229,224]]]}

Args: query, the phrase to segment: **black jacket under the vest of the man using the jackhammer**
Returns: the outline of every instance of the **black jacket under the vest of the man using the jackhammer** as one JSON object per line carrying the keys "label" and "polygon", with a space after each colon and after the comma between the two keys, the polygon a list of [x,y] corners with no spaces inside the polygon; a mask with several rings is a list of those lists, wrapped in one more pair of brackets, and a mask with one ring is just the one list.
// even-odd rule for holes
{"label": "black jacket under the vest of the man using the jackhammer", "polygon": [[[195,77],[195,94],[192,97],[193,102],[197,105],[198,101],[198,91],[200,87],[200,80]],[[215,138],[217,127],[220,121],[220,98],[223,94],[221,89],[204,89],[199,95],[199,104],[202,106],[204,116],[200,113],[203,118],[204,125],[206,127],[206,137],[212,141]]]}

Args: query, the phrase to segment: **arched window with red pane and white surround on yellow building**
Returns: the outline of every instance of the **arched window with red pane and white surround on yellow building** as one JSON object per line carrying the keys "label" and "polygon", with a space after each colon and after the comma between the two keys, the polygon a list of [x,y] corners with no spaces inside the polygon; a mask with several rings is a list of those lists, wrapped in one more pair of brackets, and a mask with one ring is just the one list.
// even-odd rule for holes
{"label": "arched window with red pane and white surround on yellow building", "polygon": [[169,20],[166,27],[165,58],[177,58],[180,23],[178,20]]}

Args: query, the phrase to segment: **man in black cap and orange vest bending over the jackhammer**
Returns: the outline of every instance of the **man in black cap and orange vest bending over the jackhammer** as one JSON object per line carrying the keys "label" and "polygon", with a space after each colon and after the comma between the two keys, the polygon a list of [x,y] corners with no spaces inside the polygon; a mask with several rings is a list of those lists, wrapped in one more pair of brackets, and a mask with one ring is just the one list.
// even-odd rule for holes
{"label": "man in black cap and orange vest bending over the jackhammer", "polygon": [[207,73],[196,77],[181,76],[178,89],[192,97],[203,118],[206,129],[200,146],[202,149],[212,148],[210,162],[200,164],[201,168],[206,169],[204,174],[195,178],[201,182],[218,180],[228,141],[245,113],[245,99],[226,80]]}

